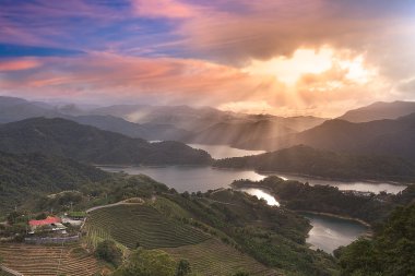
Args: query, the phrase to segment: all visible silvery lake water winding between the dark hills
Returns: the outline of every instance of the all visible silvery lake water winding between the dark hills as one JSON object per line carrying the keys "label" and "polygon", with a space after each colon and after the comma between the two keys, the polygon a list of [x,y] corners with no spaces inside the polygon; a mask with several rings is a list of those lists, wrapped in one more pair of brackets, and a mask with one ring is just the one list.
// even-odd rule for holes
{"label": "all visible silvery lake water winding between the dark hills", "polygon": [[[245,151],[232,148],[228,146],[215,145],[191,145],[197,148],[208,151],[214,158],[226,158],[260,154],[259,151]],[[215,169],[209,166],[166,166],[166,167],[100,167],[107,171],[124,171],[129,175],[147,175],[149,177],[175,188],[178,192],[197,192],[208,191],[218,188],[228,188],[234,180],[250,179],[259,181],[264,179],[270,173],[260,175],[253,170],[227,170]],[[356,191],[370,191],[379,193],[387,191],[390,193],[398,193],[405,189],[404,185],[394,185],[386,182],[342,182],[321,180],[311,177],[300,177],[287,173],[271,173],[278,176],[285,180],[298,180],[301,182],[309,182],[313,184],[328,184],[337,187],[340,190],[356,190]],[[259,199],[265,200],[269,205],[278,206],[278,202],[269,194],[265,190],[261,189],[242,189],[245,192],[256,195]],[[356,240],[359,236],[367,232],[367,228],[361,224],[336,217],[324,215],[305,214],[310,220],[312,229],[309,231],[307,242],[313,249],[321,249],[328,253],[332,253],[334,249],[346,245]]]}

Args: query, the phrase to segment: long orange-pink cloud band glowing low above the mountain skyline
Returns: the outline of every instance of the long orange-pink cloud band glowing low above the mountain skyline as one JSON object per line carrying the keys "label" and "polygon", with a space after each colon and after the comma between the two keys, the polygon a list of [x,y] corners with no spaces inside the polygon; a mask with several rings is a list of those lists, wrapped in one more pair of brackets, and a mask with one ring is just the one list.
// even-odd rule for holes
{"label": "long orange-pink cloud band glowing low above the mountain skyline", "polygon": [[188,104],[324,117],[340,115],[351,105],[370,103],[375,95],[384,96],[376,91],[368,93],[369,87],[384,91],[380,84],[354,82],[347,77],[348,70],[337,65],[304,74],[295,84],[286,85],[275,75],[251,74],[237,67],[195,59],[94,52],[35,61],[39,67],[33,70],[4,72],[0,91],[29,98],[63,97],[95,104]]}

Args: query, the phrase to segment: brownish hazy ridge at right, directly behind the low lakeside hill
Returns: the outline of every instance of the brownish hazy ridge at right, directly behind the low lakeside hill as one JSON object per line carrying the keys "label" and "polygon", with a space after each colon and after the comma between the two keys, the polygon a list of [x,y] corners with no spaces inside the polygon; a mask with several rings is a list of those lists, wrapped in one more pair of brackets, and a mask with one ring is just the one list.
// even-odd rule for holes
{"label": "brownish hazy ridge at right, directly behind the low lakeside hill", "polygon": [[415,161],[415,113],[395,120],[354,123],[329,120],[300,133],[263,140],[251,148],[277,149],[305,144],[333,152],[400,156]]}

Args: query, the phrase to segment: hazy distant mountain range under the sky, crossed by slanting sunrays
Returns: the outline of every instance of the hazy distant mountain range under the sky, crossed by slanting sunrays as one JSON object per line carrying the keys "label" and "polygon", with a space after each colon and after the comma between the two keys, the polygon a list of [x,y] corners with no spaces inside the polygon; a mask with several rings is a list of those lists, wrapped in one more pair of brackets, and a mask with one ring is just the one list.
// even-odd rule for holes
{"label": "hazy distant mountain range under the sky, crossed by slanting sunrays", "polygon": [[3,107],[0,122],[33,117],[64,118],[130,137],[227,145],[295,133],[325,120],[245,115],[188,106],[122,105],[87,109],[71,104],[54,105],[10,97],[0,97],[0,105]]}

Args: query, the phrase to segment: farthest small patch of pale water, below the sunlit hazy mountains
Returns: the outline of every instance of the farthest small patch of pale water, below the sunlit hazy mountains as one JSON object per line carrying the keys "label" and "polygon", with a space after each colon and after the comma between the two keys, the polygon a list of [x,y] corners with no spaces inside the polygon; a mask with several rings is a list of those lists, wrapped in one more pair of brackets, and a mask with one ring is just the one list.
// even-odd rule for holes
{"label": "farthest small patch of pale water, below the sunlit hazy mountains", "polygon": [[242,157],[242,156],[248,156],[248,155],[258,155],[258,154],[265,153],[265,151],[247,151],[247,149],[230,147],[227,145],[188,144],[188,146],[206,151],[215,159]]}

